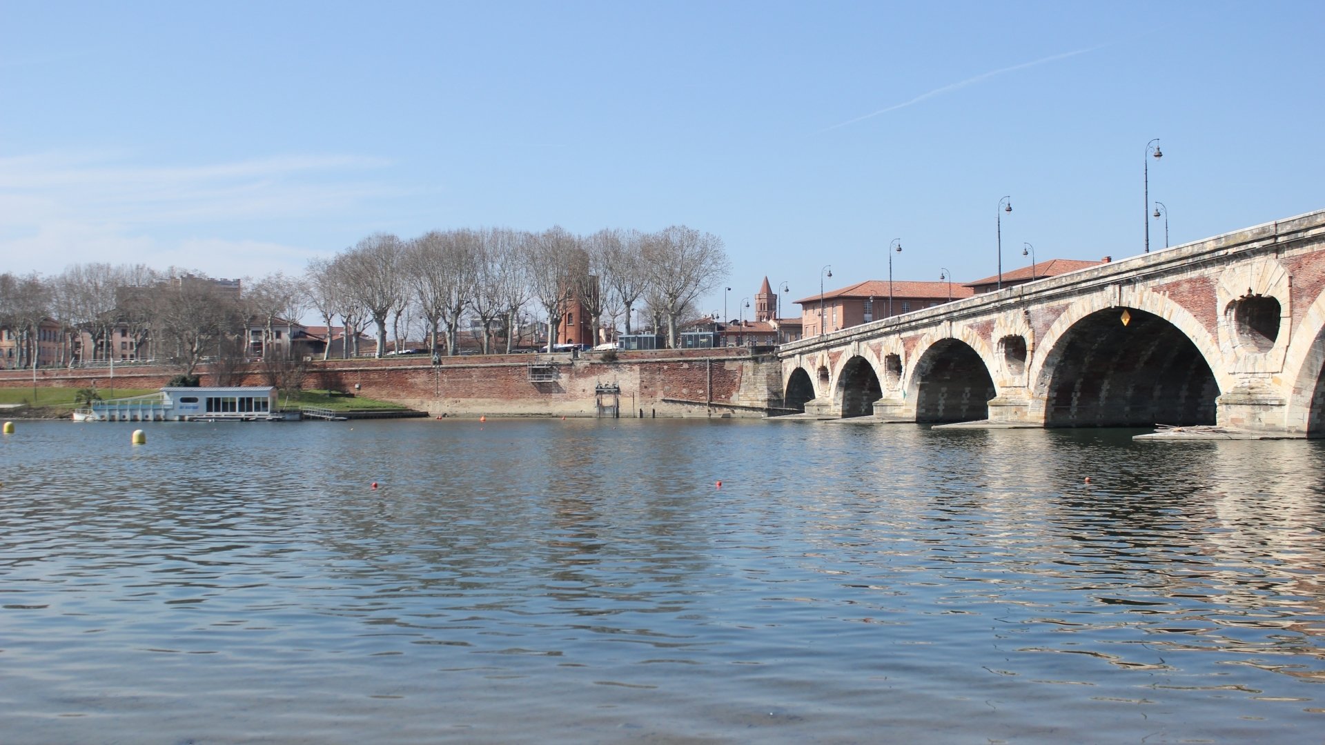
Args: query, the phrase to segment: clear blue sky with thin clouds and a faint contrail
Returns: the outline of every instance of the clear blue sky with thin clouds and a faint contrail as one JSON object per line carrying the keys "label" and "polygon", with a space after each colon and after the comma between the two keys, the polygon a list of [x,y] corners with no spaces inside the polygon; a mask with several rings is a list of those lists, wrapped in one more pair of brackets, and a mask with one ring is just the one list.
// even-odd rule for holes
{"label": "clear blue sky with thin clouds and a faint contrail", "polygon": [[686,224],[734,317],[894,237],[896,278],[992,274],[1004,195],[1004,269],[1121,258],[1151,138],[1173,244],[1325,208],[1322,8],[0,0],[0,270]]}

